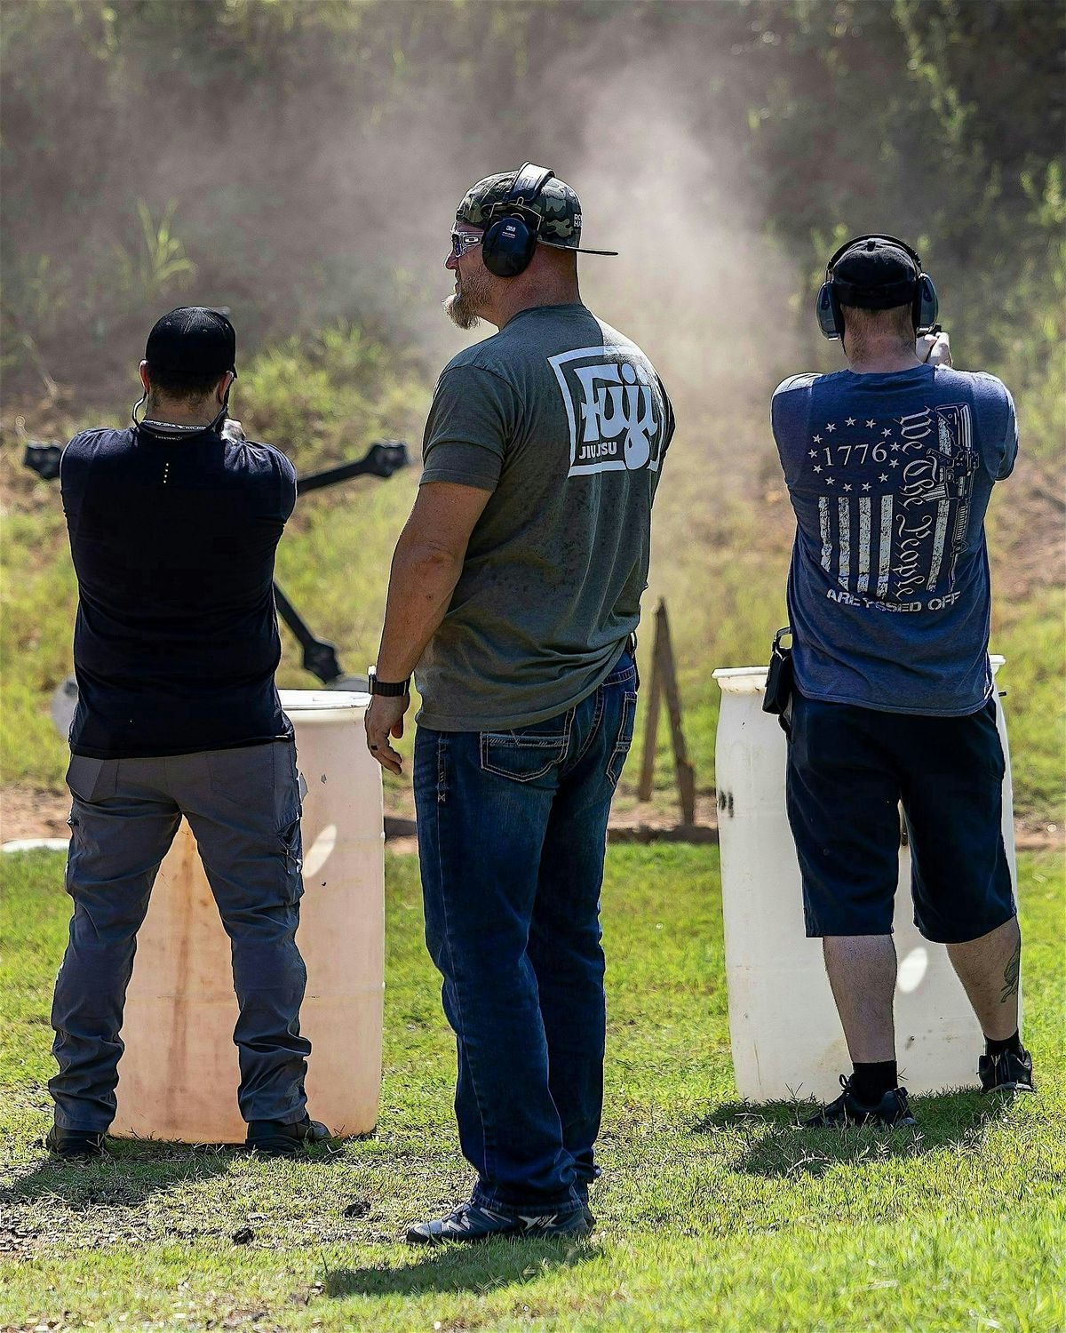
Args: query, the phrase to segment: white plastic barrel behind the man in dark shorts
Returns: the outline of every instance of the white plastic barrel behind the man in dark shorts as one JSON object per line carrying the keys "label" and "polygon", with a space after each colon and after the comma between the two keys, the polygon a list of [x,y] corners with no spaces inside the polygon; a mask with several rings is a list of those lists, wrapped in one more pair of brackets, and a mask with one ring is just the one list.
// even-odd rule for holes
{"label": "white plastic barrel behind the man in dark shorts", "polygon": [[[1002,665],[993,657],[993,670]],[[803,934],[796,845],[785,812],[785,734],[762,712],[765,666],[714,672],[722,690],[714,750],[729,1032],[737,1090],[750,1101],[833,1097],[851,1062],[822,962],[821,940]],[[1006,722],[1003,842],[1014,865],[1013,790]],[[899,850],[894,917],[899,973],[895,1049],[914,1093],[977,1084],[981,1026],[941,944],[914,925],[910,854]]]}

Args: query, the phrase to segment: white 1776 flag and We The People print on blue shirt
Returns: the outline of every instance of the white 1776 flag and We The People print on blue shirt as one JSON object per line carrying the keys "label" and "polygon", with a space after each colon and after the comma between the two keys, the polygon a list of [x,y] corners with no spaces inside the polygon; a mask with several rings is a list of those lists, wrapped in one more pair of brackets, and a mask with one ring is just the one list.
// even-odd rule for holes
{"label": "white 1776 flag and We The People print on blue shirt", "polygon": [[979,465],[969,405],[815,423],[806,461],[835,600],[886,611],[950,605]]}

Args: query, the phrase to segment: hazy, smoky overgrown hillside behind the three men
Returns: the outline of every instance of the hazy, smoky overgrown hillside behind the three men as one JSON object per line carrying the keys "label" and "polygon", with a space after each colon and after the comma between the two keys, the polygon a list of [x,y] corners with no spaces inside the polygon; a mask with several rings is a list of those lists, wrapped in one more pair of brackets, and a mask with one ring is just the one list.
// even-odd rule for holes
{"label": "hazy, smoky overgrown hillside behind the three men", "polygon": [[[440,311],[454,207],[532,159],[577,188],[586,244],[621,252],[582,257],[582,293],[677,407],[646,607],[674,612],[701,785],[709,669],[765,661],[784,623],[770,393],[841,364],[813,316],[826,257],[889,231],[934,277],[955,364],[998,373],[1018,404],[1022,457],[989,524],[993,647],[1018,808],[1061,808],[1059,0],[5,0],[0,44],[12,780],[61,785],[48,701],[76,601],[59,496],[21,468],[17,416],[55,441],[121,421],[148,328],[199,303],[237,327],[237,415],[298,468],[417,441],[462,339]],[[374,651],[414,484],[317,493],[280,548],[285,592],[353,666]],[[281,682],[305,686],[284,641]]]}

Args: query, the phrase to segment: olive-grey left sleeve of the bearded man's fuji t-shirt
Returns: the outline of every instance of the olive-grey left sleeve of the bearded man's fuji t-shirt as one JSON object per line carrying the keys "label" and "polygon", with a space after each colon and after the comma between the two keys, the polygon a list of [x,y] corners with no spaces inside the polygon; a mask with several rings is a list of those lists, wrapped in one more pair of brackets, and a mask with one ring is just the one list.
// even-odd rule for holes
{"label": "olive-grey left sleeve of the bearded man's fuji t-shirt", "polygon": [[422,479],[496,491],[518,399],[506,380],[473,365],[444,372],[422,437]]}

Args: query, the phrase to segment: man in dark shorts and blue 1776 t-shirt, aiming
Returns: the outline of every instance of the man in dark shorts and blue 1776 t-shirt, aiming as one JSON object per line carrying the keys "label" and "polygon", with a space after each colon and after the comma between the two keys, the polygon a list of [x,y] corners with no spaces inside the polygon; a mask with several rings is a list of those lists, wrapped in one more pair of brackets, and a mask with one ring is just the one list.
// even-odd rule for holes
{"label": "man in dark shorts and blue 1776 t-shirt, aiming", "polygon": [[902,241],[830,260],[818,297],[849,368],[797,375],[772,421],[797,532],[788,809],[807,936],[822,938],[853,1073],[807,1125],[913,1124],[897,1086],[893,896],[902,801],[915,921],[981,1021],[986,1092],[1031,1090],[1021,936],[1001,834],[983,519],[1018,451],[991,375],[951,368],[937,297]]}

